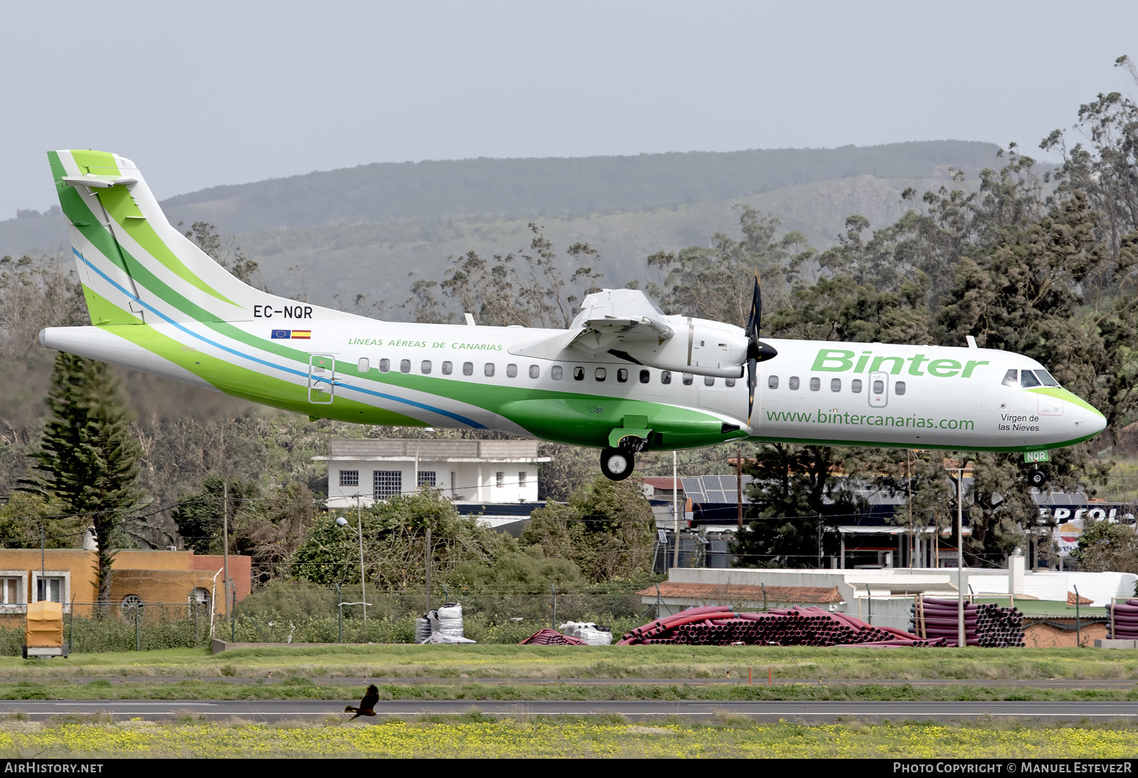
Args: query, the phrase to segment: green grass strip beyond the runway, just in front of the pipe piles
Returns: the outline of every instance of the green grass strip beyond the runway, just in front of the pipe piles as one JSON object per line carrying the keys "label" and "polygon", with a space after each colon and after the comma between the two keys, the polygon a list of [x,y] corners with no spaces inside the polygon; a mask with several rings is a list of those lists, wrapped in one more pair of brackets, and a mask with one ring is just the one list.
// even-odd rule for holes
{"label": "green grass strip beyond the runway, just in front of the pipe piles", "polygon": [[775,678],[1138,679],[1138,651],[1096,648],[815,648],[766,646],[417,646],[170,649],[0,657],[0,679],[145,678]]}

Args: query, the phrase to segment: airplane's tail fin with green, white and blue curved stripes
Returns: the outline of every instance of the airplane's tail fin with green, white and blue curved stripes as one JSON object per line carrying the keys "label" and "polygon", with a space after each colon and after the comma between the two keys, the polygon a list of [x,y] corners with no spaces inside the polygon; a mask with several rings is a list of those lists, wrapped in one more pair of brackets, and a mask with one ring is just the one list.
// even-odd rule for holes
{"label": "airplane's tail fin with green, white and blue curved stripes", "polygon": [[93,324],[250,317],[264,295],[166,221],[134,163],[79,149],[48,158]]}

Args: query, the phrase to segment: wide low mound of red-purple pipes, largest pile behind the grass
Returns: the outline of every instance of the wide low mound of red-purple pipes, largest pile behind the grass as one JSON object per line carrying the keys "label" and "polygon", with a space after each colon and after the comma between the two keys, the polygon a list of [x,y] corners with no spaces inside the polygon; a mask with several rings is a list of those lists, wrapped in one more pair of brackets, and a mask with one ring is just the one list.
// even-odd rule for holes
{"label": "wide low mound of red-purple pipes, largest pile behind the grass", "polygon": [[772,609],[765,613],[736,613],[720,605],[691,607],[657,619],[625,635],[617,645],[778,646],[930,646],[946,640],[925,640],[890,627],[873,627],[820,607]]}

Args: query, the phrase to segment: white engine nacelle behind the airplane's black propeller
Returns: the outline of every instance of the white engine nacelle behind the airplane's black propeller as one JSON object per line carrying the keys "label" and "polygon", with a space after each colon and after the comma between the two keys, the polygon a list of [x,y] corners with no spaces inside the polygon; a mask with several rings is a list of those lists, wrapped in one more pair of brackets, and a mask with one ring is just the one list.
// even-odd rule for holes
{"label": "white engine nacelle behind the airplane's black propeller", "polygon": [[624,351],[649,367],[742,378],[748,346],[743,328],[691,316],[668,316],[667,323],[675,332],[671,338],[662,344],[625,344]]}

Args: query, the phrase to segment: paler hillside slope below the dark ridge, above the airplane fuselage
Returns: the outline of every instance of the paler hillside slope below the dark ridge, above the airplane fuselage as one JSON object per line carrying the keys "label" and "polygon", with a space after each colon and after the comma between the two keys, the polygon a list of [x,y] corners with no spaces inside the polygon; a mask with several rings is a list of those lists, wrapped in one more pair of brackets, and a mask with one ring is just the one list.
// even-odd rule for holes
{"label": "paler hillside slope below the dark ridge, above the airplane fuselage", "polygon": [[[624,285],[644,276],[644,258],[659,250],[707,245],[712,234],[739,238],[737,204],[777,215],[783,230],[798,230],[816,248],[834,242],[850,214],[861,214],[874,226],[891,224],[905,213],[901,191],[939,187],[937,180],[881,180],[864,175],[839,181],[786,187],[749,197],[691,205],[589,215],[536,218],[559,249],[575,241],[600,253],[605,285]],[[369,304],[382,301],[382,315],[401,318],[409,296],[409,272],[439,279],[448,256],[468,250],[489,258],[517,253],[530,239],[533,217],[401,220],[313,230],[272,230],[236,237],[262,266],[270,289],[344,307],[356,293]],[[333,296],[339,295],[341,301]]]}

